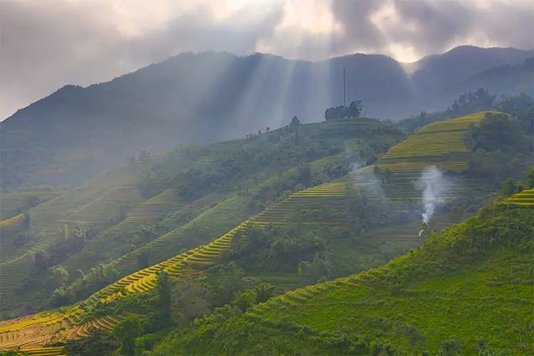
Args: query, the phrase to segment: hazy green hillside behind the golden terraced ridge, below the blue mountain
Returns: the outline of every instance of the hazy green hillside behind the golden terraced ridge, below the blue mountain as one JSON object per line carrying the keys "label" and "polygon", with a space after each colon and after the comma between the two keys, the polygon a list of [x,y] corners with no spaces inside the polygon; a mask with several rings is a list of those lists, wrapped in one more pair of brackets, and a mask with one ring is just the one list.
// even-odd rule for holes
{"label": "hazy green hillside behind the golden terraced ridge, below the blue mountain", "polygon": [[[402,137],[396,127],[365,118],[302,125],[294,117],[269,131],[162,155],[141,151],[122,172],[108,174],[115,180],[97,178],[30,209],[31,229],[17,240],[19,256],[28,258],[8,262],[19,270],[6,284],[18,283],[15,305],[86,298],[221,236],[292,192],[342,177],[352,162],[375,159]],[[33,241],[38,245],[28,251]],[[57,271],[66,277],[50,283]]]}

